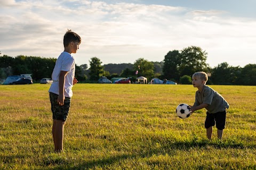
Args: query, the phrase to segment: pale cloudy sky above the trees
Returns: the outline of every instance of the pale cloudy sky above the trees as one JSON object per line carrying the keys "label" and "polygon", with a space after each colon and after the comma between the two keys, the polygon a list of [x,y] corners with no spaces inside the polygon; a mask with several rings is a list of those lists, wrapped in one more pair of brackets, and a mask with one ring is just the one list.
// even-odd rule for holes
{"label": "pale cloudy sky above the trees", "polygon": [[63,35],[82,43],[76,64],[162,62],[190,46],[211,67],[256,64],[254,0],[0,0],[0,52],[58,58]]}

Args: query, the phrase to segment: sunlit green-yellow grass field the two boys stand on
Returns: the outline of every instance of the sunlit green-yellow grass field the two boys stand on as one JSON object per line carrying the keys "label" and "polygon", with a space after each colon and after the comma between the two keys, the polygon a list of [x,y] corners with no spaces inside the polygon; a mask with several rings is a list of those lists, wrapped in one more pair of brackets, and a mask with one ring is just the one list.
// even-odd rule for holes
{"label": "sunlit green-yellow grass field the two boys stand on", "polygon": [[222,141],[204,129],[192,85],[76,84],[54,153],[49,84],[1,86],[0,169],[256,169],[256,87],[210,86],[230,104]]}

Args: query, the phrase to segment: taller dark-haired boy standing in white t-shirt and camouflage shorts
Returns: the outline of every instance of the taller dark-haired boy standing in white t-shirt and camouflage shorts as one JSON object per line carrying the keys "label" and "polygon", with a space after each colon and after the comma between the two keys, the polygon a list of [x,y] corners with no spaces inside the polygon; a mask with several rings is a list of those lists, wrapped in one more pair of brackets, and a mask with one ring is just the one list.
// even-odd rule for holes
{"label": "taller dark-haired boy standing in white t-shirt and camouflage shorts", "polygon": [[79,49],[81,38],[68,30],[63,38],[64,52],[58,57],[53,72],[53,83],[49,89],[52,109],[52,137],[55,152],[63,151],[63,131],[67,120],[70,100],[73,96],[72,87],[78,81],[75,78],[75,60],[71,53]]}

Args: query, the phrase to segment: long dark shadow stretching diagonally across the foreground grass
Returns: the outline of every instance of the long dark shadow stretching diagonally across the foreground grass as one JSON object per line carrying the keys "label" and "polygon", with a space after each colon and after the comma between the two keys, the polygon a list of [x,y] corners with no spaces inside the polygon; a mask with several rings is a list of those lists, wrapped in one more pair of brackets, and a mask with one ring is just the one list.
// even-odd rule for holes
{"label": "long dark shadow stretching diagonally across the foreground grass", "polygon": [[[54,166],[51,169],[94,169],[96,167],[108,167],[111,164],[121,163],[126,159],[134,158],[145,158],[151,157],[152,155],[172,155],[172,150],[189,150],[190,148],[206,148],[213,147],[216,149],[226,149],[226,148],[235,148],[235,149],[244,149],[244,148],[255,148],[254,146],[244,146],[243,143],[237,143],[236,141],[228,140],[225,142],[221,141],[209,141],[209,140],[190,140],[190,141],[176,141],[176,142],[165,142],[159,148],[143,147],[139,152],[134,152],[134,154],[122,154],[109,156],[106,158],[99,158],[96,160],[85,161],[82,164],[72,164],[68,160],[65,160],[64,157],[59,157],[58,159],[49,159],[45,164],[46,166]],[[47,168],[49,169],[49,168]]]}

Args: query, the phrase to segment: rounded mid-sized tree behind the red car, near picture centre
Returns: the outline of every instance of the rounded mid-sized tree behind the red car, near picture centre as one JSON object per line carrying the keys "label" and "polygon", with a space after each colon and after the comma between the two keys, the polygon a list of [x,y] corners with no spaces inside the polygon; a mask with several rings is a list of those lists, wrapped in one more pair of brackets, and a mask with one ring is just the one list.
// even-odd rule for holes
{"label": "rounded mid-sized tree behind the red car, near picture centre", "polygon": [[154,78],[154,64],[152,62],[139,58],[134,62],[133,66],[134,70],[138,71],[138,77]]}

